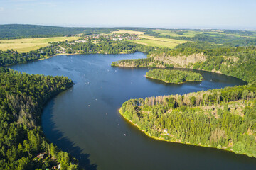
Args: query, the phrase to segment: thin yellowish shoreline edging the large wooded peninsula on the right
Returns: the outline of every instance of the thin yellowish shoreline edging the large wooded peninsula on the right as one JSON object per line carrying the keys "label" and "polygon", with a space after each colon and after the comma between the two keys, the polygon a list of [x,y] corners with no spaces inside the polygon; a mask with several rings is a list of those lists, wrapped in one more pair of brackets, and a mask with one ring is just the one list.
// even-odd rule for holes
{"label": "thin yellowish shoreline edging the large wooded peninsula on the right", "polygon": [[[121,107],[122,108],[122,107]],[[142,130],[142,128],[139,127],[139,125],[137,124],[134,124],[132,122],[132,120],[129,120],[127,118],[124,117],[124,114],[122,113],[121,111],[121,108],[118,109],[118,112],[120,115],[122,115],[122,118],[124,118],[125,120],[127,120],[129,123],[131,123],[132,125],[136,126],[141,132],[143,132],[147,137],[151,138],[151,139],[154,139],[154,140],[159,140],[159,141],[164,141],[164,142],[173,142],[173,143],[179,143],[179,144],[183,144],[183,145],[193,145],[193,146],[196,146],[196,147],[208,147],[208,148],[214,148],[214,149],[220,149],[220,150],[223,150],[225,152],[232,152],[233,154],[240,154],[240,153],[236,153],[236,152],[233,152],[233,149],[223,149],[223,148],[218,148],[218,147],[210,147],[210,146],[206,146],[206,145],[195,145],[195,144],[191,144],[191,143],[187,143],[187,142],[178,142],[178,141],[173,141],[173,140],[165,140],[164,138],[161,138],[161,137],[154,137],[154,136],[151,136],[149,135],[147,132],[145,132],[145,130]],[[251,158],[255,158],[256,157],[253,157],[253,156],[250,156],[248,154],[242,154],[242,155],[245,155],[247,157],[251,157]]]}

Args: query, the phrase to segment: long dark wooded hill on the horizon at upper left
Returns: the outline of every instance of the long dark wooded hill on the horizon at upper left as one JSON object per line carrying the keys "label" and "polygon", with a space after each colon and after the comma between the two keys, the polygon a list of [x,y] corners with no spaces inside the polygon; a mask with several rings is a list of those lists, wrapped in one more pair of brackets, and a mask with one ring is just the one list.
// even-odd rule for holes
{"label": "long dark wooded hill on the horizon at upper left", "polygon": [[114,30],[143,30],[146,28],[82,28],[82,27],[58,27],[37,26],[25,24],[0,25],[0,39],[53,37],[74,34],[110,33]]}

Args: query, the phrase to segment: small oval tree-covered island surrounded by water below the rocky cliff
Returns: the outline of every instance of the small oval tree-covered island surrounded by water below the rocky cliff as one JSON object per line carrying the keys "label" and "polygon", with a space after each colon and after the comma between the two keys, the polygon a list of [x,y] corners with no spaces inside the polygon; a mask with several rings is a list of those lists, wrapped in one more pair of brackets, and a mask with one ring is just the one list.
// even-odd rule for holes
{"label": "small oval tree-covered island surrounded by water below the rocky cliff", "polygon": [[202,81],[203,79],[199,73],[168,69],[151,69],[146,72],[146,77],[172,84],[182,84],[185,81]]}

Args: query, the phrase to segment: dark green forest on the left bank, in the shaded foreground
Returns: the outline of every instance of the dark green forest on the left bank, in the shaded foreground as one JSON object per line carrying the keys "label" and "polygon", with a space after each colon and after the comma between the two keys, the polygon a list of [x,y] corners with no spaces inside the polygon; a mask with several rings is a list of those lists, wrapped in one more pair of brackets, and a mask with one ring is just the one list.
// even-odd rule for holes
{"label": "dark green forest on the left bank, in the shaded foreground", "polygon": [[78,169],[77,160],[48,142],[40,126],[43,104],[73,82],[0,67],[0,86],[0,169]]}

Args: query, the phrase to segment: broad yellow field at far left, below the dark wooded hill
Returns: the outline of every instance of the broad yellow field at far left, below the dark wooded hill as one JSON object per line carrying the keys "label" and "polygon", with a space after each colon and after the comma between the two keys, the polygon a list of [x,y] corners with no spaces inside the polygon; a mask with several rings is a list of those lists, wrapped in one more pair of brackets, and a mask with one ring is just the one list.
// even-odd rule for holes
{"label": "broad yellow field at far left, below the dark wooded hill", "polygon": [[0,40],[0,50],[17,50],[18,52],[29,52],[46,47],[49,42],[78,40],[80,37],[53,37],[53,38],[22,38],[15,40]]}

